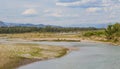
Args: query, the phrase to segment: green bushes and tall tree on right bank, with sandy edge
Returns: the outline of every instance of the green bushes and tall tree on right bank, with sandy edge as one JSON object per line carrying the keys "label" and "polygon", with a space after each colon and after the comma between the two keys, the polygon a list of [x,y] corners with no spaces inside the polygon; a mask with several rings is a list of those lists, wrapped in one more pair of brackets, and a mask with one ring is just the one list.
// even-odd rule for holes
{"label": "green bushes and tall tree on right bank, with sandy edge", "polygon": [[108,25],[105,30],[89,31],[83,34],[84,37],[88,37],[93,40],[109,41],[120,43],[120,23]]}

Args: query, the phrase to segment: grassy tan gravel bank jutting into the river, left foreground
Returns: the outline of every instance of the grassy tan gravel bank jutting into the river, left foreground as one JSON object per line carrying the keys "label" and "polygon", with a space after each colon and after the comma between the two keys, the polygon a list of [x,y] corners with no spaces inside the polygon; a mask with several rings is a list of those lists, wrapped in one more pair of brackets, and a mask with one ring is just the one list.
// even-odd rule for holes
{"label": "grassy tan gravel bank jutting into the river, left foreground", "polygon": [[58,58],[66,53],[66,48],[58,46],[0,44],[0,69],[14,69],[31,62]]}

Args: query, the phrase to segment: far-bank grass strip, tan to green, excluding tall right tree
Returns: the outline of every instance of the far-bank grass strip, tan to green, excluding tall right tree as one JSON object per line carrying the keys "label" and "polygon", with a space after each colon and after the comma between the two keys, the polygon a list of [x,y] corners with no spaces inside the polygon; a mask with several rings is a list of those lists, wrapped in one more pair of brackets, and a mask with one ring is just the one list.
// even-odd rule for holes
{"label": "far-bank grass strip, tan to green, excluding tall right tree", "polygon": [[117,40],[107,40],[104,30],[80,31],[77,33],[19,33],[19,34],[0,34],[0,37],[22,38],[33,41],[67,41],[80,42],[81,39],[90,39],[104,42],[112,42],[120,45],[120,37]]}

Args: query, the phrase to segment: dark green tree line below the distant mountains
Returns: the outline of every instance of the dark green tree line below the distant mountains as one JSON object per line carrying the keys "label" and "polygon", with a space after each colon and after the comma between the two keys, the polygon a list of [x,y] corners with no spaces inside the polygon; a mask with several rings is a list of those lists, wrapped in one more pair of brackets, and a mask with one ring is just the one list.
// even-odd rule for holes
{"label": "dark green tree line below the distant mountains", "polygon": [[79,28],[79,27],[0,27],[0,33],[27,33],[27,32],[79,32],[88,30],[98,30],[94,27]]}

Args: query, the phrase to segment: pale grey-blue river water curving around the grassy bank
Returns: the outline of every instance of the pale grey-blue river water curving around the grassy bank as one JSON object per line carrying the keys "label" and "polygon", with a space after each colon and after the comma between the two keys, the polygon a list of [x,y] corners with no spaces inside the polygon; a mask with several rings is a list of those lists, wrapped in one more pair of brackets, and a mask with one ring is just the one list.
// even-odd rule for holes
{"label": "pale grey-blue river water curving around the grassy bank", "polygon": [[72,46],[62,58],[34,62],[18,69],[120,69],[120,47],[99,42],[37,42],[39,44]]}

